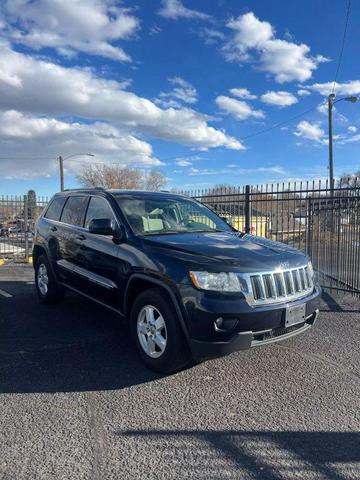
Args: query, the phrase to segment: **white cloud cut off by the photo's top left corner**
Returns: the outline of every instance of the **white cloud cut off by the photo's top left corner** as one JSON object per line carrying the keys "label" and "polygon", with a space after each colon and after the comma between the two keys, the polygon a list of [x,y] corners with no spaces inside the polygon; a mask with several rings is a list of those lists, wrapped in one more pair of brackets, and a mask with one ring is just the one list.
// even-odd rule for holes
{"label": "white cloud cut off by the photo's top left corner", "polygon": [[55,48],[60,55],[76,52],[130,61],[118,45],[139,28],[139,20],[118,8],[116,0],[5,0],[3,35],[35,50]]}

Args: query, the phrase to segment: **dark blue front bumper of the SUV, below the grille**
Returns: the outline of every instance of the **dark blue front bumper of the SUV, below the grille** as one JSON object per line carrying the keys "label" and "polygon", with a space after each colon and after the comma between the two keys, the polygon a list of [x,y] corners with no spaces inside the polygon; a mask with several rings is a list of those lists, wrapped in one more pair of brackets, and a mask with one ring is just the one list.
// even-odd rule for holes
{"label": "dark blue front bumper of the SUV, below the grille", "polygon": [[[320,288],[312,294],[291,303],[252,308],[245,300],[222,302],[215,298],[192,297],[187,305],[189,345],[195,360],[204,360],[228,355],[238,350],[266,345],[285,340],[305,332],[317,320],[319,313]],[[189,297],[187,297],[189,299]],[[306,304],[305,322],[286,328],[285,310],[289,305]],[[220,307],[220,308],[219,308]],[[225,312],[225,313],[224,313]],[[216,331],[218,317],[236,318],[236,324],[229,331]]]}

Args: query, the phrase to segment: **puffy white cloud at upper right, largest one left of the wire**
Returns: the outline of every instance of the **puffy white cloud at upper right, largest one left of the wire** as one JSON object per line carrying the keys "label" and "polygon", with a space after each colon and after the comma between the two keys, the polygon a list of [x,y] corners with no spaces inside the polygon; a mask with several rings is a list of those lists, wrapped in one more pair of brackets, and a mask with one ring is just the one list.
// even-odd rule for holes
{"label": "puffy white cloud at upper right, largest one left of the wire", "polygon": [[230,20],[227,27],[233,36],[223,48],[225,58],[240,63],[255,61],[260,70],[273,75],[279,83],[304,82],[321,62],[327,61],[321,55],[309,56],[310,48],[305,44],[276,38],[273,26],[252,12]]}

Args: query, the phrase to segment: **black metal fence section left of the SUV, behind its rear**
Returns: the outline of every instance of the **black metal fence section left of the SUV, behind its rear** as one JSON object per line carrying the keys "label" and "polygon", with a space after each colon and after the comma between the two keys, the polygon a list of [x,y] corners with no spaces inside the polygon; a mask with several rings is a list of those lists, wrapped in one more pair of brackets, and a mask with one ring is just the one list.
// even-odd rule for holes
{"label": "black metal fence section left of the SUV, behind its rear", "polygon": [[0,196],[0,259],[29,259],[35,220],[48,201],[33,195]]}

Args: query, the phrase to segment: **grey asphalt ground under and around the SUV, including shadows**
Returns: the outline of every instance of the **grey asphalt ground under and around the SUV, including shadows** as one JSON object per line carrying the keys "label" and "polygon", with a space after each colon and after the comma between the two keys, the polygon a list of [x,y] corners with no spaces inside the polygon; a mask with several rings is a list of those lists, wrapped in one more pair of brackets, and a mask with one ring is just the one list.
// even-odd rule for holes
{"label": "grey asphalt ground under and around the SUV, including shadows", "polygon": [[0,267],[0,479],[360,478],[358,299],[162,377],[116,315],[72,294],[41,305],[32,280]]}

